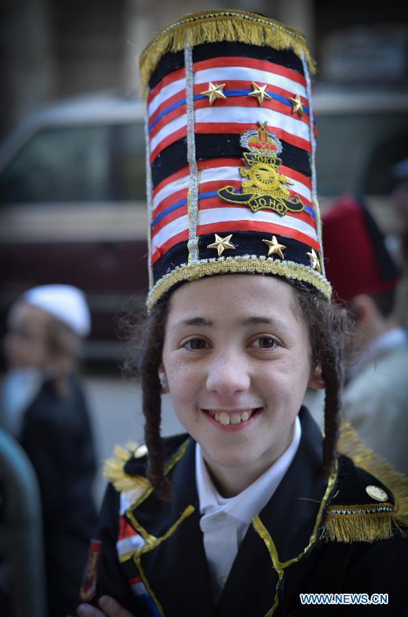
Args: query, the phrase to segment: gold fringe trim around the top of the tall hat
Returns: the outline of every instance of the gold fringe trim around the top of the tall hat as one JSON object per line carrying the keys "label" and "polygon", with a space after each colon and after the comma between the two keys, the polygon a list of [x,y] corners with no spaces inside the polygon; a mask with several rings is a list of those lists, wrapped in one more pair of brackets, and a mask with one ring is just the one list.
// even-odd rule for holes
{"label": "gold fringe trim around the top of the tall hat", "polygon": [[274,49],[291,49],[298,58],[304,56],[309,70],[315,73],[315,62],[311,59],[301,32],[254,13],[220,9],[186,15],[169,23],[154,37],[142,51],[140,58],[144,95],[150,76],[167,51],[181,51],[186,45],[193,47],[221,40]]}

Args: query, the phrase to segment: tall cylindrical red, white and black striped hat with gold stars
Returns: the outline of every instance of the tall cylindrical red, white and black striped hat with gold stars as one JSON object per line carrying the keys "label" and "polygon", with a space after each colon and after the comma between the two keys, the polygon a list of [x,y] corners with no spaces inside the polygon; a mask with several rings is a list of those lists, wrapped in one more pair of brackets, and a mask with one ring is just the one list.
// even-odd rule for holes
{"label": "tall cylindrical red, white and black striped hat with gold stars", "polygon": [[313,62],[296,30],[213,10],[141,54],[151,309],[202,276],[285,276],[330,298],[316,197]]}

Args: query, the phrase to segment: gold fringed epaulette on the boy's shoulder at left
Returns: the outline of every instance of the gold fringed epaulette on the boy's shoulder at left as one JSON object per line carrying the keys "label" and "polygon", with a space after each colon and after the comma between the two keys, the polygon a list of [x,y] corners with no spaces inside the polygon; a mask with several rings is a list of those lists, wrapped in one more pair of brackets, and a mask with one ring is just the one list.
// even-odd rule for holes
{"label": "gold fringed epaulette on the boy's shoulder at left", "polygon": [[133,489],[145,490],[150,486],[149,481],[144,476],[130,476],[124,471],[125,464],[132,457],[139,458],[145,455],[145,446],[139,446],[134,441],[126,444],[125,448],[116,446],[113,450],[114,456],[107,459],[104,463],[102,474],[111,482],[117,491],[124,493]]}

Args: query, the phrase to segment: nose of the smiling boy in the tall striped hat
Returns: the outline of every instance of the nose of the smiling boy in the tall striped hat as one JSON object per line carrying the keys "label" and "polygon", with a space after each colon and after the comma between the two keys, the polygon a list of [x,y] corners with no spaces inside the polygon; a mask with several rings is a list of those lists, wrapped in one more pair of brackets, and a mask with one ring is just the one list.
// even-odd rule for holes
{"label": "nose of the smiling boy in the tall striped hat", "polygon": [[248,367],[237,356],[214,358],[208,367],[206,388],[221,396],[233,396],[250,387]]}

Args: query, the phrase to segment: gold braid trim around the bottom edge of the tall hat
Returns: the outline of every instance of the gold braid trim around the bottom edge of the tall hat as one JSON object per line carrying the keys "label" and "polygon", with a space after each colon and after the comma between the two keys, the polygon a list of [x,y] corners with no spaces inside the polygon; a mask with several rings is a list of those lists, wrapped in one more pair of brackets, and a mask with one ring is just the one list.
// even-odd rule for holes
{"label": "gold braid trim around the bottom edge of the tall hat", "polygon": [[152,309],[158,299],[169,291],[173,285],[183,280],[197,280],[203,276],[225,273],[256,273],[256,274],[278,274],[287,276],[291,279],[308,282],[318,289],[326,300],[331,298],[331,285],[316,270],[310,266],[298,264],[292,261],[278,261],[273,258],[260,258],[255,255],[220,257],[218,259],[203,259],[195,264],[182,264],[174,268],[169,274],[165,274],[156,282],[147,297],[147,309]]}

